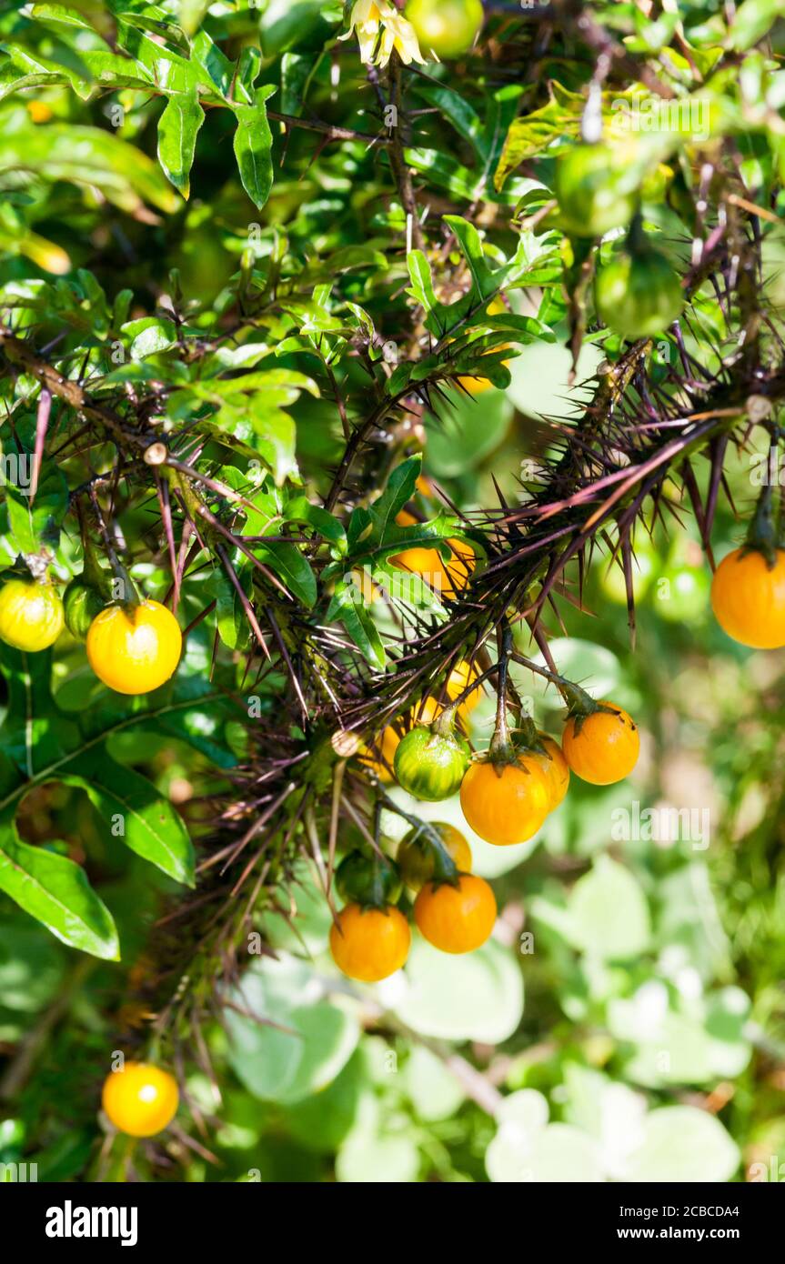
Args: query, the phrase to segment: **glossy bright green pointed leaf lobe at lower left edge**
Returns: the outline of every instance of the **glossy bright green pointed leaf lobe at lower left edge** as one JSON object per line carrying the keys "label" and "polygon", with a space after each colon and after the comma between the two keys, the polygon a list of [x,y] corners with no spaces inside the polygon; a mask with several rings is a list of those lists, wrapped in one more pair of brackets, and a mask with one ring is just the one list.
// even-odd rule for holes
{"label": "glossy bright green pointed leaf lobe at lower left edge", "polygon": [[0,890],[71,948],[118,961],[111,914],[73,861],[19,841],[13,813],[0,824]]}

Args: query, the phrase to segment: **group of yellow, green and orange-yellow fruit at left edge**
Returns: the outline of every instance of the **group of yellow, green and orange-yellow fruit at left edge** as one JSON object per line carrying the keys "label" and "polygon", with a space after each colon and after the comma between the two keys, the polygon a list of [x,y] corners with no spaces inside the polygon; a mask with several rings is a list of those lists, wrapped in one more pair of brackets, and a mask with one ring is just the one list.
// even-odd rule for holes
{"label": "group of yellow, green and orange-yellow fruit at left edge", "polygon": [[159,602],[105,602],[82,576],[61,597],[49,580],[6,579],[0,586],[0,640],[35,652],[63,627],[86,642],[87,660],[109,689],[147,694],[173,675],[182,650],[177,619]]}

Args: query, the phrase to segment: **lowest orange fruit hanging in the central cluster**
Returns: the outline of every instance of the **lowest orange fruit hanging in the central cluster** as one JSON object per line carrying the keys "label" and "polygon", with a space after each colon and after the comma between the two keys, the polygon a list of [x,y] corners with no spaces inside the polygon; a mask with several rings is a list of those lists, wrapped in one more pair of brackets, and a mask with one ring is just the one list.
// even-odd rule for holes
{"label": "lowest orange fruit hanging in the central cluster", "polygon": [[348,904],[330,929],[332,961],[363,983],[378,983],[401,969],[411,940],[408,921],[392,904],[383,909]]}

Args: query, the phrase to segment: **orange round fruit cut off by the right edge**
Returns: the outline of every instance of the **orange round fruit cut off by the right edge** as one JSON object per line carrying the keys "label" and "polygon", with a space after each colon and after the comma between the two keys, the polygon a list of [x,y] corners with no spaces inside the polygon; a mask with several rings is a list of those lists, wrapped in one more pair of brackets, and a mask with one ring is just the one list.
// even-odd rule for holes
{"label": "orange round fruit cut off by the right edge", "polygon": [[785,549],[769,568],[757,549],[734,549],[712,580],[712,609],[723,632],[752,650],[785,645]]}

